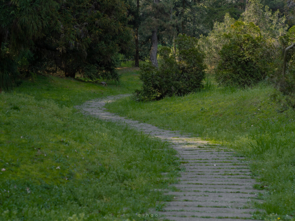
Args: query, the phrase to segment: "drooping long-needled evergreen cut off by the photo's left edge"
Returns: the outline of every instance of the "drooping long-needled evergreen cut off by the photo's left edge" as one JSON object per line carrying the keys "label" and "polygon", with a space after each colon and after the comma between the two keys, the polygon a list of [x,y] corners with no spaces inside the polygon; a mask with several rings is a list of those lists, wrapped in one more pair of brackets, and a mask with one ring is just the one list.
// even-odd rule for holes
{"label": "drooping long-needled evergreen cut off by the photo's left edge", "polygon": [[18,55],[48,32],[57,8],[53,0],[0,1],[0,91],[11,87]]}

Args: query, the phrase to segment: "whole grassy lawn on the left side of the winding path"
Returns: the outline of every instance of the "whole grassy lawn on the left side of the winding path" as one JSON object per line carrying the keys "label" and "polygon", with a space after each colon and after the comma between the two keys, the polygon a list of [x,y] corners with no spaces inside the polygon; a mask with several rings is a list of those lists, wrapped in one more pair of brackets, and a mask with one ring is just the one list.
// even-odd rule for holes
{"label": "whole grassy lawn on the left side of the winding path", "polygon": [[0,94],[0,220],[132,220],[161,206],[173,150],[73,108],[139,87],[128,70],[108,87],[39,76]]}

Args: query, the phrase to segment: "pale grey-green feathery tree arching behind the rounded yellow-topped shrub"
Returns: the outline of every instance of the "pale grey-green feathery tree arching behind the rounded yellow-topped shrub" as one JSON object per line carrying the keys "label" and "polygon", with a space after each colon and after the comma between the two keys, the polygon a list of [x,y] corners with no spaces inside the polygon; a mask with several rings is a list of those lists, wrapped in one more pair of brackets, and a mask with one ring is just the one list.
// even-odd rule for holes
{"label": "pale grey-green feathery tree arching behind the rounded yellow-topped shrub", "polygon": [[[276,60],[281,56],[279,37],[283,36],[288,28],[285,24],[286,18],[281,15],[280,11],[272,12],[268,6],[263,7],[260,0],[249,0],[246,6],[247,10],[242,13],[239,21],[247,24],[253,22],[259,27],[261,35],[268,39],[268,43],[271,44],[271,48],[273,48],[272,57],[273,60]],[[226,14],[223,22],[214,23],[213,29],[207,37],[201,36],[200,45],[206,52],[205,62],[209,66],[209,72],[212,72],[214,67],[217,66],[220,59],[219,52],[228,41],[224,37],[224,33],[231,33],[233,31],[232,25],[235,22],[230,14]],[[274,69],[277,70],[278,68]]]}

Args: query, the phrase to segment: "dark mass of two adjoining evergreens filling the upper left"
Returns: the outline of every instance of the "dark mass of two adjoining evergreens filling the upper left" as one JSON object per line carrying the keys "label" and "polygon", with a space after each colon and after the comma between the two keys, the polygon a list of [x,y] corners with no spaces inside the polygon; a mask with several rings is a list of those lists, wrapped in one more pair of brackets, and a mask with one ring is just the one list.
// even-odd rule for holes
{"label": "dark mass of two adjoining evergreens filling the upper left", "polygon": [[0,90],[20,72],[115,79],[118,53],[132,48],[121,0],[0,1]]}

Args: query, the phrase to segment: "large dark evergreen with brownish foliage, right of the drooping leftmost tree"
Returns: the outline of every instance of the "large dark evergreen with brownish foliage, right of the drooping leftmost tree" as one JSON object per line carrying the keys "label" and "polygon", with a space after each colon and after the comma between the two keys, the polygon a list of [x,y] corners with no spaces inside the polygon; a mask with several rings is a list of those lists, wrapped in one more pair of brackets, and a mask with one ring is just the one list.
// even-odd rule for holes
{"label": "large dark evergreen with brownish foliage, right of the drooping leftmost tree", "polygon": [[124,2],[75,0],[60,1],[60,6],[52,32],[37,42],[40,62],[66,77],[80,72],[91,80],[118,80],[118,52],[127,52],[132,42]]}

